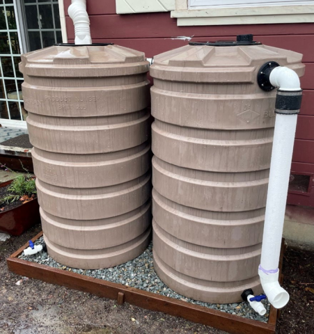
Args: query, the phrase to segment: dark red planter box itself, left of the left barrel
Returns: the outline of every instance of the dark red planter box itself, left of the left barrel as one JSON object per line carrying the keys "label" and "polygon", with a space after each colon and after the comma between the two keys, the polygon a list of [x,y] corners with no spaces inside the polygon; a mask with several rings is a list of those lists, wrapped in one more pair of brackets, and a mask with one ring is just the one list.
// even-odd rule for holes
{"label": "dark red planter box itself, left of the left barrel", "polygon": [[[3,182],[0,187],[8,186],[11,182],[12,180]],[[37,223],[40,223],[37,198],[0,213],[0,232],[11,235],[21,235]]]}

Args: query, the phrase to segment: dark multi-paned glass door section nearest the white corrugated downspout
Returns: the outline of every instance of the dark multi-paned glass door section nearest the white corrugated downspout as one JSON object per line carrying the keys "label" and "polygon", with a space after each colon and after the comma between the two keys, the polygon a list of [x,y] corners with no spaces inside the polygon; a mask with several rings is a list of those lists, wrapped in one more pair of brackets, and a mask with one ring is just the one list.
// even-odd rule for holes
{"label": "dark multi-paned glass door section nearest the white corrugated downspout", "polygon": [[62,42],[58,0],[24,0],[28,51]]}

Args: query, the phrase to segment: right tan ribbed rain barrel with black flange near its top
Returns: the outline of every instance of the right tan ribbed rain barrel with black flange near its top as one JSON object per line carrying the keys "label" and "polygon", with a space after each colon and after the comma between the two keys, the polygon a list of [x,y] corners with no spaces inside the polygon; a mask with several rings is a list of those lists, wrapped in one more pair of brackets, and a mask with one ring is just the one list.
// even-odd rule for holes
{"label": "right tan ribbed rain barrel with black flange near its top", "polygon": [[260,294],[258,265],[276,92],[267,61],[304,73],[301,54],[265,45],[187,45],[155,56],[153,255],[159,277],[210,303]]}

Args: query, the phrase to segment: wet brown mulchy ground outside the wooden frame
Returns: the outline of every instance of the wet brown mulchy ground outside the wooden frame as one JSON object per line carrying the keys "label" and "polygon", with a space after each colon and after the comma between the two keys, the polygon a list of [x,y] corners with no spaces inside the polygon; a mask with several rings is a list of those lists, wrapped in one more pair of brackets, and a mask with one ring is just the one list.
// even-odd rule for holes
{"label": "wet brown mulchy ground outside the wooden frame", "polygon": [[[191,323],[160,312],[58,287],[40,280],[21,280],[8,271],[6,257],[40,231],[36,226],[0,242],[1,334],[223,334],[214,328]],[[277,333],[313,334],[314,253],[289,248],[285,252],[283,286],[290,302],[281,311]],[[306,283],[306,284],[304,284]]]}

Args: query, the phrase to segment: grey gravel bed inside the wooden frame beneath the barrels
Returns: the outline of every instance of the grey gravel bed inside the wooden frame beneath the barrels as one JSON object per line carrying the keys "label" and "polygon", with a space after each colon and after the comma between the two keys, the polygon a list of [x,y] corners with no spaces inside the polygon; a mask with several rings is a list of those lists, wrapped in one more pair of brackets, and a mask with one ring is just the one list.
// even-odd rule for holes
{"label": "grey gravel bed inside the wooden frame beneath the barrels", "polygon": [[[43,243],[44,239],[43,237],[40,237],[35,244]],[[49,257],[44,251],[30,256],[19,255],[19,259],[39,264],[47,264],[49,267],[72,271],[73,273],[81,273],[82,275],[91,276],[93,278],[100,278],[102,280],[108,280],[109,282],[135,287],[155,294],[161,294],[174,299],[180,299],[181,301],[205,306],[205,308],[212,308],[214,310],[226,312],[231,315],[238,315],[240,317],[254,319],[265,323],[268,321],[270,304],[267,300],[262,301],[267,310],[266,315],[262,317],[251,308],[249,303],[246,302],[221,305],[203,303],[201,301],[194,301],[194,299],[186,298],[185,296],[174,292],[159,279],[154,270],[152,263],[152,243],[150,243],[143,254],[139,255],[139,257],[136,257],[134,260],[107,269],[84,270],[66,267],[63,266],[63,264],[54,261],[52,257]]]}

